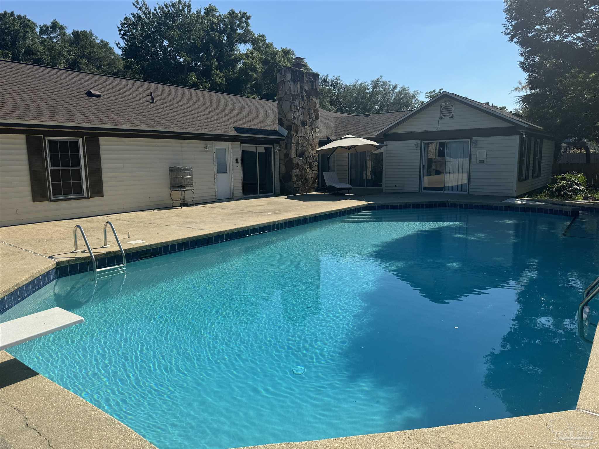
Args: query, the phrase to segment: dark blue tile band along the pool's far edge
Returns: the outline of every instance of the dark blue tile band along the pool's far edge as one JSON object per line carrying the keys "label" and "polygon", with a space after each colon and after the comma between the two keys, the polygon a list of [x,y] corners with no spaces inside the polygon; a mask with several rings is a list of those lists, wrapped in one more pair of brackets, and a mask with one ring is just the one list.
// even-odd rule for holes
{"label": "dark blue tile band along the pool's far edge", "polygon": [[[455,208],[467,210],[483,210],[483,211],[504,211],[504,212],[525,212],[537,213],[546,215],[556,215],[564,217],[577,217],[579,209],[588,207],[571,207],[570,210],[556,209],[553,207],[532,207],[532,206],[512,206],[500,204],[471,204],[461,203],[457,201],[442,201],[442,202],[410,202],[401,204],[368,204],[365,206],[355,207],[342,211],[319,214],[313,217],[305,217],[302,219],[287,220],[286,222],[274,223],[273,225],[256,226],[250,229],[236,230],[222,234],[213,235],[210,237],[202,237],[196,239],[188,239],[186,241],[177,242],[168,245],[161,245],[153,248],[147,248],[140,251],[131,251],[125,253],[127,263],[137,262],[138,260],[150,259],[152,257],[166,256],[167,254],[179,253],[180,251],[192,250],[210,245],[216,245],[222,242],[228,242],[240,238],[250,237],[265,232],[273,232],[280,229],[288,229],[289,227],[308,225],[310,223],[322,222],[324,220],[336,219],[350,214],[355,214],[362,211],[382,211],[382,210],[403,210],[403,209],[430,209],[430,208]],[[98,268],[105,266],[120,265],[123,256],[99,257],[97,259]],[[38,276],[34,280],[29,281],[25,285],[17,288],[4,298],[0,299],[0,315],[5,313],[14,305],[31,296],[47,284],[55,281],[58,278],[70,276],[73,274],[85,273],[92,271],[92,261],[72,262],[68,265],[59,265],[44,274]]]}

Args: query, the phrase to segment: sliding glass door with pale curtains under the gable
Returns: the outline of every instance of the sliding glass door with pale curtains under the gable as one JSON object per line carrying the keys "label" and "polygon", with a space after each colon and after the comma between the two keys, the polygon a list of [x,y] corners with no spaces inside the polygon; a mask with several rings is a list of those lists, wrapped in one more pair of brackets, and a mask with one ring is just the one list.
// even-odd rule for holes
{"label": "sliding glass door with pale curtains under the gable", "polygon": [[422,143],[422,191],[468,193],[470,141]]}

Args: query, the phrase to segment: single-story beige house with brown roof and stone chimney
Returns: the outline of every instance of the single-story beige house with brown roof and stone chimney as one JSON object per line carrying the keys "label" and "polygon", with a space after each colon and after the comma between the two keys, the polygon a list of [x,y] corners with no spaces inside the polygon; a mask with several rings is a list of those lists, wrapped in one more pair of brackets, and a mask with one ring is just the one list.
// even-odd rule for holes
{"label": "single-story beige house with brown roof and stone chimney", "polygon": [[[552,137],[488,104],[443,92],[341,114],[319,109],[317,74],[277,80],[267,101],[0,60],[0,226],[170,206],[170,166],[193,168],[196,203],[314,190],[331,169],[384,192],[516,196],[550,180]],[[346,134],[386,147],[311,156]]]}

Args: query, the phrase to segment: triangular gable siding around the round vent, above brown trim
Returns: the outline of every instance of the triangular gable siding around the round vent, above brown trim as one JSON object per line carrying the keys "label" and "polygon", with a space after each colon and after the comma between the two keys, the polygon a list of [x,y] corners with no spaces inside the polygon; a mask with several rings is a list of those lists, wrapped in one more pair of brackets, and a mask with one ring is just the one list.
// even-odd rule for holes
{"label": "triangular gable siding around the round vent, above brown trim", "polygon": [[416,113],[406,122],[401,123],[388,132],[444,131],[447,129],[498,128],[510,126],[510,123],[464,105],[458,101],[453,103],[453,117],[440,119],[440,101],[425,110]]}

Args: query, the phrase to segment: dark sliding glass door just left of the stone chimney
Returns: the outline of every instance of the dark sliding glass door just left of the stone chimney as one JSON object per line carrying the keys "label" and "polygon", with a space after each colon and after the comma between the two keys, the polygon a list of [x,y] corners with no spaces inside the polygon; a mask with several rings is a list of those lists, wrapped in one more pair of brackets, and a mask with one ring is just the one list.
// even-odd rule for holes
{"label": "dark sliding glass door just left of the stone chimney", "polygon": [[274,193],[273,147],[241,145],[241,174],[243,195],[272,195]]}

